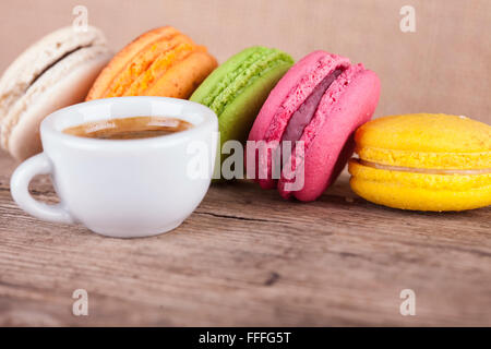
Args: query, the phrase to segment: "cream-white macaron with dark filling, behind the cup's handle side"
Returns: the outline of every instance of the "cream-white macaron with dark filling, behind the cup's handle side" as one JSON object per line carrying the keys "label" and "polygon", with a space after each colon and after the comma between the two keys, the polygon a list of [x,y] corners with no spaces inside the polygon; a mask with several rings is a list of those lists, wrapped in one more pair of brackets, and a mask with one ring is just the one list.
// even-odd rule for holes
{"label": "cream-white macaron with dark filling, behind the cup's handle side", "polygon": [[23,160],[41,152],[39,124],[83,101],[111,58],[104,34],[88,26],[58,29],[27,48],[0,79],[0,144]]}

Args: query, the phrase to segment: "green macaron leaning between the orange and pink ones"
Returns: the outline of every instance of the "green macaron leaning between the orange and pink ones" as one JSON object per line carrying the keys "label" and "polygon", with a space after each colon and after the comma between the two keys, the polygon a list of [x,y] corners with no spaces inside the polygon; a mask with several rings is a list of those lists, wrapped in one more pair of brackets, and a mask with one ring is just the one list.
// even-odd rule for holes
{"label": "green macaron leaning between the orange and pink ones", "polygon": [[280,50],[254,46],[228,59],[197,87],[190,100],[217,115],[220,148],[230,140],[244,144],[270,92],[292,64]]}

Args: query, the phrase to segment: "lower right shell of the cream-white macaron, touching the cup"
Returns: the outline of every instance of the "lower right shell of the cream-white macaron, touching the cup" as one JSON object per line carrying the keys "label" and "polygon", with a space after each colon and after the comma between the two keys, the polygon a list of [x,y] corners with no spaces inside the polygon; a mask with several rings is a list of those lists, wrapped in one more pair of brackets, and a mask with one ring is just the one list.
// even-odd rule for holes
{"label": "lower right shell of the cream-white macaron, touching the cup", "polygon": [[110,56],[101,46],[81,49],[51,67],[27,89],[2,122],[2,145],[15,159],[23,160],[41,151],[43,119],[82,101]]}

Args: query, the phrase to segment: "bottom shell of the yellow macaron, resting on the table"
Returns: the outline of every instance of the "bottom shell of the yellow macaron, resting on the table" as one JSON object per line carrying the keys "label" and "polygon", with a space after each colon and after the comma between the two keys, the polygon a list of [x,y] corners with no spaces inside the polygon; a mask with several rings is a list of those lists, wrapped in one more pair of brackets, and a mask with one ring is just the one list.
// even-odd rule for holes
{"label": "bottom shell of the yellow macaron, resting on the table", "polygon": [[380,205],[412,210],[464,210],[491,205],[491,173],[424,174],[349,161],[351,189]]}

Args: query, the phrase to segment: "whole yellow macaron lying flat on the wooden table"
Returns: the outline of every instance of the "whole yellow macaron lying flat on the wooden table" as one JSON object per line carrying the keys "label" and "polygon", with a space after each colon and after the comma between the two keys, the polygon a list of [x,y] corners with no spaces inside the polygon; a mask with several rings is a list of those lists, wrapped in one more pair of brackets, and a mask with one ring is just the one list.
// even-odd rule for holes
{"label": "whole yellow macaron lying flat on the wooden table", "polygon": [[351,189],[375,204],[415,210],[491,205],[491,127],[416,113],[372,120],[355,135]]}

